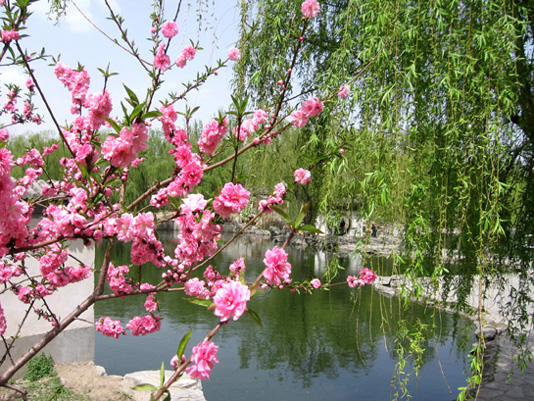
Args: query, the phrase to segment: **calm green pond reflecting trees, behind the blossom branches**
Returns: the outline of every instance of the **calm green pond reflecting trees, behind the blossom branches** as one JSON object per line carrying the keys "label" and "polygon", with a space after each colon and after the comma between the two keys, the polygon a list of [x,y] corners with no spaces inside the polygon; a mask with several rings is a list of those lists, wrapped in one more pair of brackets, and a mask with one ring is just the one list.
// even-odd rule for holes
{"label": "calm green pond reflecting trees, behind the blossom branches", "polygon": [[[167,239],[166,247],[173,247]],[[232,244],[213,265],[225,273],[230,263],[246,257],[247,280],[263,269],[270,240],[244,237]],[[97,263],[102,259],[97,251]],[[312,279],[324,274],[326,255],[311,249],[289,249],[294,279]],[[117,249],[116,264],[127,263],[129,250]],[[365,263],[377,263],[377,260]],[[340,280],[355,274],[361,260],[340,259],[345,270]],[[369,266],[369,264],[366,264]],[[161,270],[143,268],[143,277],[157,282]],[[176,353],[178,343],[193,331],[188,349],[199,343],[218,322],[205,308],[183,299],[181,293],[158,295],[162,329],[145,337],[131,334],[116,340],[97,333],[95,363],[108,374],[123,375],[138,370],[156,370]],[[144,313],[144,297],[108,300],[95,306],[95,317],[110,316],[125,325]],[[468,372],[470,323],[458,316],[410,305],[403,310],[396,299],[385,298],[374,289],[350,289],[295,294],[288,290],[261,293],[248,305],[260,316],[263,327],[248,315],[224,326],[214,338],[219,346],[219,364],[203,382],[208,401],[215,400],[388,400],[407,376],[413,400],[450,401],[465,385]],[[434,313],[433,313],[434,312]],[[423,327],[425,348],[417,361],[408,358],[404,374],[398,372],[395,352],[399,314],[408,323],[401,329],[412,332]],[[405,347],[410,344],[403,341]],[[467,348],[466,348],[467,347]],[[413,364],[420,364],[416,376]],[[392,382],[396,386],[392,386]]]}

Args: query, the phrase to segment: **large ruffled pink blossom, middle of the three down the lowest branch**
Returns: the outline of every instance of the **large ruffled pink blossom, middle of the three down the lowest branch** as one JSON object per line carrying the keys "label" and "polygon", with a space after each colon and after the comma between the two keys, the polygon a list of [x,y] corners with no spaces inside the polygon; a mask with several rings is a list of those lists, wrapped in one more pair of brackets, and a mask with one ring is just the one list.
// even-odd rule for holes
{"label": "large ruffled pink blossom, middle of the three down the lowest branch", "polygon": [[241,317],[247,302],[250,300],[250,290],[239,281],[224,283],[213,297],[215,302],[215,316],[219,316],[221,322],[230,318],[237,320]]}

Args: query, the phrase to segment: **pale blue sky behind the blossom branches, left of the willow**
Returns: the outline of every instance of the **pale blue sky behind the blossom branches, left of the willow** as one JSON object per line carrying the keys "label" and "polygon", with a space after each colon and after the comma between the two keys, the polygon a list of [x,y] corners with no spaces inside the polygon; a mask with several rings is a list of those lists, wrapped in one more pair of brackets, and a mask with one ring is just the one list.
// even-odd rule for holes
{"label": "pale blue sky behind the blossom branches, left of the willow", "polygon": [[[70,1],[89,18],[99,29],[112,38],[120,38],[116,25],[107,19],[109,16],[104,0],[75,0]],[[114,12],[125,20],[125,27],[129,36],[139,48],[141,57],[152,62],[152,42],[147,40],[150,36],[152,12],[149,0],[109,0]],[[164,18],[172,19],[178,0],[165,2]],[[226,59],[227,50],[236,45],[237,26],[239,23],[239,10],[234,0],[203,0],[202,2],[202,25],[199,30],[198,1],[182,1],[182,7],[177,19],[179,32],[173,38],[169,48],[171,61],[181,53],[184,46],[190,44],[190,40],[199,41],[203,50],[197,52],[194,60],[189,61],[181,69],[174,66],[164,73],[164,84],[160,90],[161,95],[156,98],[155,105],[165,98],[169,92],[181,93],[184,82],[194,80],[198,72],[205,71],[205,66],[214,66],[218,59]],[[206,5],[206,3],[209,3]],[[123,84],[132,89],[139,99],[144,99],[146,90],[150,85],[150,78],[139,62],[115,43],[98,32],[87,19],[69,4],[67,14],[56,23],[48,17],[49,3],[41,0],[30,6],[34,14],[28,20],[27,29],[24,31],[29,37],[20,40],[22,48],[27,52],[40,52],[45,48],[45,53],[59,57],[60,61],[71,68],[78,64],[84,66],[91,77],[89,93],[97,92],[103,88],[104,79],[98,68],[118,72],[118,76],[111,77],[107,88],[113,99],[112,115],[122,118],[120,101],[126,96]],[[66,125],[73,121],[70,114],[71,96],[67,88],[61,84],[54,75],[54,66],[49,61],[36,61],[32,64],[38,83],[42,86],[48,102],[60,123]],[[231,65],[230,65],[231,67]],[[0,69],[0,82],[2,83],[0,101],[5,102],[5,83],[12,82],[25,87],[26,75],[19,67],[3,67]],[[187,97],[187,105],[190,108],[200,106],[195,118],[208,122],[216,116],[219,109],[228,108],[230,104],[230,80],[231,68],[223,68],[218,76],[212,76],[203,87],[191,92]],[[38,132],[43,130],[55,130],[51,118],[41,102],[35,101],[40,115],[45,122],[41,125],[25,124],[22,126],[9,127],[12,134],[26,132]],[[177,110],[185,110],[185,101],[176,104]],[[19,106],[21,101],[19,100]],[[9,123],[6,116],[0,117],[0,125]]]}

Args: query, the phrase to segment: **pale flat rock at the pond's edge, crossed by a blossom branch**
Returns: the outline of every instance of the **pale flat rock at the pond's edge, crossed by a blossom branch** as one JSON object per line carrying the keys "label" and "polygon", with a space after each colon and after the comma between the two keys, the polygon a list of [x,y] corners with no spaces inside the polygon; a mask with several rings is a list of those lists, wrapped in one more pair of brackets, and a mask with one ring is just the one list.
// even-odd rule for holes
{"label": "pale flat rock at the pond's edge, crossed by a blossom branch", "polygon": [[[165,371],[165,380],[169,379],[174,372]],[[145,370],[141,372],[128,373],[122,380],[122,391],[132,396],[133,401],[149,401],[150,391],[133,390],[135,386],[141,384],[151,384],[159,387],[160,372],[158,370]],[[184,374],[170,388],[171,400],[206,401],[202,392],[200,380],[193,379]]]}

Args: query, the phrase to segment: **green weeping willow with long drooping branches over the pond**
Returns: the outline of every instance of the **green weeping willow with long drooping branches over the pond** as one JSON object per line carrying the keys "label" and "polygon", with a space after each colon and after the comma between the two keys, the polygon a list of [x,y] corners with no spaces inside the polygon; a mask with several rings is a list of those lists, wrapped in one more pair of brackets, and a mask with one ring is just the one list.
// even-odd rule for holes
{"label": "green weeping willow with long drooping branches over the pond", "polygon": [[[291,61],[285,44],[295,33],[281,22],[300,1],[241,6],[236,85],[261,104]],[[332,0],[321,8],[303,35],[295,93],[327,97],[325,88],[349,83],[352,102],[331,106],[300,139],[318,159],[346,149],[318,175],[315,202],[323,213],[358,205],[362,216],[401,223],[409,276],[447,280],[452,261],[485,283],[519,273],[503,307],[516,327],[529,327],[534,4]],[[473,276],[463,277],[460,300]]]}

